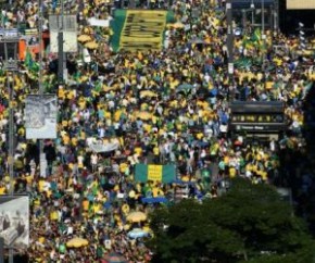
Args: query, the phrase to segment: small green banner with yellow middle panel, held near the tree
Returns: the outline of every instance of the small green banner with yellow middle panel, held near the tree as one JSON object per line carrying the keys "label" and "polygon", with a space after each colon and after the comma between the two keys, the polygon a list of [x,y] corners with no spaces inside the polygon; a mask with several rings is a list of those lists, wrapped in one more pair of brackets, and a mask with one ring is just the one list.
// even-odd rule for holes
{"label": "small green banner with yellow middle panel, held near the tree", "polygon": [[135,180],[173,183],[176,179],[175,165],[136,164]]}

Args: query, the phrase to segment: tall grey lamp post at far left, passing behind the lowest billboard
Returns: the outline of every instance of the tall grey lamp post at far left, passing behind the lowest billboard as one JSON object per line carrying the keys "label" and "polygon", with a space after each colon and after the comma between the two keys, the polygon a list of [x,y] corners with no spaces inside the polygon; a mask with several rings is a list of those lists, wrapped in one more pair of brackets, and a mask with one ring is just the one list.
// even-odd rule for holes
{"label": "tall grey lamp post at far left, passing behind the lowest billboard", "polygon": [[[1,32],[0,42],[4,50],[3,68],[7,72],[7,88],[9,92],[9,176],[10,176],[10,196],[14,195],[13,178],[14,178],[14,74],[18,71],[17,47],[18,32],[17,29],[4,29]],[[13,263],[13,248],[9,248],[9,263]]]}

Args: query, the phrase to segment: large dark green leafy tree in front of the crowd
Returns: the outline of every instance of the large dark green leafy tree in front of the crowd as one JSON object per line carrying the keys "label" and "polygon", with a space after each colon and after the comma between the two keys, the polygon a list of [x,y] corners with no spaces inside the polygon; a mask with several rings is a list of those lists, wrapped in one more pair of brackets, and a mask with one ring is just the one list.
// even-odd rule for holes
{"label": "large dark green leafy tree in front of the crowd", "polygon": [[185,200],[151,214],[152,262],[312,262],[314,241],[268,185],[234,179],[220,198]]}

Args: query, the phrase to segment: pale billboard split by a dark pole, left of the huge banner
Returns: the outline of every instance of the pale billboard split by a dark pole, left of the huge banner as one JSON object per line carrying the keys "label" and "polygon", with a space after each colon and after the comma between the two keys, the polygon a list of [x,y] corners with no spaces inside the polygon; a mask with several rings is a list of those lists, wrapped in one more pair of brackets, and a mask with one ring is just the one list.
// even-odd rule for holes
{"label": "pale billboard split by a dark pole, left of the huge banner", "polygon": [[63,27],[63,52],[77,52],[77,22],[76,15],[59,15],[49,16],[50,28],[50,52],[58,52],[58,36]]}

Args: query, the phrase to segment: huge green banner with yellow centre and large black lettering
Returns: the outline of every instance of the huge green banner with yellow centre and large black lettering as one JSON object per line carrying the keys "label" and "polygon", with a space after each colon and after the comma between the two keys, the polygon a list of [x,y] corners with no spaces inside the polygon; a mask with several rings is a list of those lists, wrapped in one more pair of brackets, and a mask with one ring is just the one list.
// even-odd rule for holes
{"label": "huge green banner with yellow centre and large black lettering", "polygon": [[173,13],[160,10],[116,10],[111,22],[114,51],[161,50]]}

